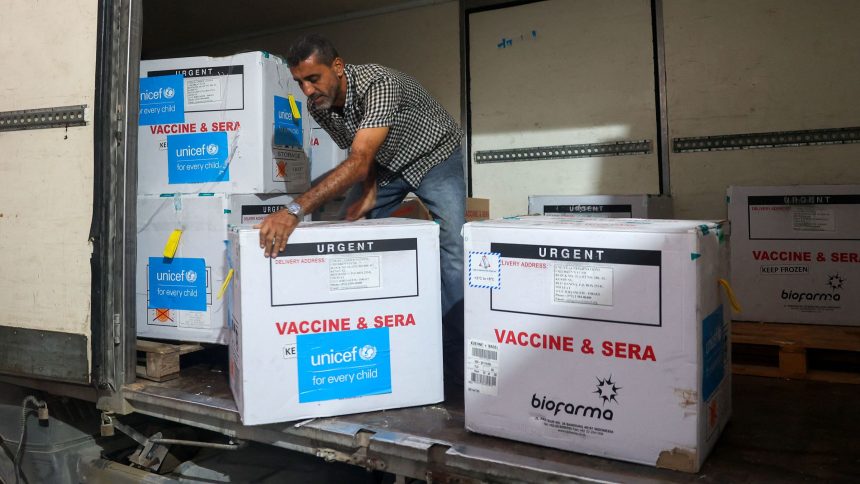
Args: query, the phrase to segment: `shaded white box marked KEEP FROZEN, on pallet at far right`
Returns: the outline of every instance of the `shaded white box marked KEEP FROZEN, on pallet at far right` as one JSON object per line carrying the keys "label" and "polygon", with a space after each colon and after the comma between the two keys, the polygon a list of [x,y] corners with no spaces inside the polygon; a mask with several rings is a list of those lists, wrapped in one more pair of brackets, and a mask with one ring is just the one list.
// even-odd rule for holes
{"label": "shaded white box marked KEEP FROZEN, on pallet at far right", "polygon": [[730,187],[735,319],[860,325],[860,185]]}

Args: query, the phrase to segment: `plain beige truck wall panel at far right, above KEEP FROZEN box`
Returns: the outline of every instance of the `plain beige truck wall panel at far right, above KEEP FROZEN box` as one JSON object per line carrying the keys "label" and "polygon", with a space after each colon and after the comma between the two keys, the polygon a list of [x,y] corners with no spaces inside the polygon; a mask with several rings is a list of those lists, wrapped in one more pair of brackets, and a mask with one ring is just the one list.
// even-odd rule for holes
{"label": "plain beige truck wall panel at far right, above KEEP FROZEN box", "polygon": [[[669,136],[860,126],[860,2],[665,0]],[[678,217],[726,186],[860,182],[860,144],[670,153]]]}

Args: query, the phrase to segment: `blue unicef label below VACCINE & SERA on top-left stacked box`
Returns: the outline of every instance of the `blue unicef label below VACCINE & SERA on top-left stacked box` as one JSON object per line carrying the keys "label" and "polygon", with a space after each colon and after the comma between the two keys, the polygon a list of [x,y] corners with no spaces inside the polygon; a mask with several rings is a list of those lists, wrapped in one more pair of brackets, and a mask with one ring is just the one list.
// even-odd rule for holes
{"label": "blue unicef label below VACCINE & SERA on top-left stacked box", "polygon": [[227,133],[174,134],[167,137],[167,183],[230,181]]}

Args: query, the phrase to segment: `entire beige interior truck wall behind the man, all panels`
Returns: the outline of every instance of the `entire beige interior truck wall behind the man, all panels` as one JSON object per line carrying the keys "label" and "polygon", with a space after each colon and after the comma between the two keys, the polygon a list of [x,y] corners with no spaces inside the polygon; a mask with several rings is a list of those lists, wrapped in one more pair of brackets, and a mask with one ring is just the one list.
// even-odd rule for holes
{"label": "entire beige interior truck wall behind the man, all panels", "polygon": [[[673,138],[860,126],[860,111],[854,109],[860,64],[851,60],[860,44],[860,2],[664,0],[662,7],[670,140],[664,149],[677,217],[725,217],[725,190],[733,184],[860,181],[854,166],[860,144],[671,151]],[[297,34],[320,32],[348,62],[377,62],[413,75],[459,119],[458,9],[453,1],[409,8],[196,53],[284,53]],[[602,11],[615,13],[601,16]],[[603,23],[574,25],[583,15]],[[470,29],[473,157],[476,149],[640,138],[655,143],[649,155],[473,165],[473,194],[492,199],[494,217],[524,212],[525,197],[534,194],[659,191],[649,1],[515,5],[472,13]],[[537,31],[534,42],[480,51],[481,45],[492,41],[496,49],[500,39],[516,34],[519,40],[531,30]],[[476,85],[487,67],[481,56],[496,54],[509,59],[506,76]],[[532,68],[524,69],[523,62]],[[566,81],[556,87],[558,102],[547,101],[548,86],[555,86],[548,73]],[[599,89],[565,90],[573,84]],[[476,102],[483,102],[480,110],[495,121],[486,123]]]}

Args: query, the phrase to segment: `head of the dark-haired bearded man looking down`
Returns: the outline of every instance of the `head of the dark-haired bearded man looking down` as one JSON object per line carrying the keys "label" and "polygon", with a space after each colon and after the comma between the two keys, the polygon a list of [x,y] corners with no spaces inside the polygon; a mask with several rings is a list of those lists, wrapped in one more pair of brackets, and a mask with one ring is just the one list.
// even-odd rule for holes
{"label": "head of the dark-haired bearded man looking down", "polygon": [[287,66],[315,107],[330,109],[344,105],[346,76],[343,59],[328,39],[318,34],[299,37],[287,52]]}

